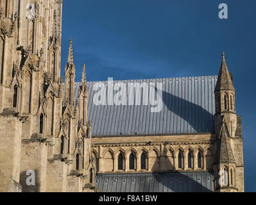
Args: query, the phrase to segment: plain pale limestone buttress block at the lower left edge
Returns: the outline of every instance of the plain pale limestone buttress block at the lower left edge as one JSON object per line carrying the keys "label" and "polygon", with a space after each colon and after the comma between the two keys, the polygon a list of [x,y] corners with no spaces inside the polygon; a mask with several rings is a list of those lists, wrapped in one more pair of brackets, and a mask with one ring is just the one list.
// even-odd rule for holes
{"label": "plain pale limestone buttress block at the lower left edge", "polygon": [[21,127],[19,118],[7,110],[0,115],[0,192],[21,192]]}

